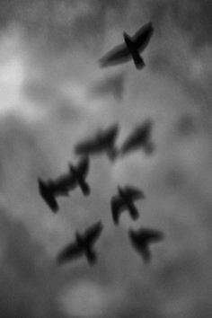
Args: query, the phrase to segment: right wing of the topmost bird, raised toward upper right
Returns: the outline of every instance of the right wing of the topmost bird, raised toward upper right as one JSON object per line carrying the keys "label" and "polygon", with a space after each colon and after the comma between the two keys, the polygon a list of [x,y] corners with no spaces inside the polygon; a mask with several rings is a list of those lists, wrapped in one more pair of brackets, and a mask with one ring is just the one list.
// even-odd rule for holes
{"label": "right wing of the topmost bird, raised toward upper right", "polygon": [[148,22],[143,25],[133,36],[133,41],[137,46],[138,51],[143,51],[151,39],[154,32],[153,23]]}

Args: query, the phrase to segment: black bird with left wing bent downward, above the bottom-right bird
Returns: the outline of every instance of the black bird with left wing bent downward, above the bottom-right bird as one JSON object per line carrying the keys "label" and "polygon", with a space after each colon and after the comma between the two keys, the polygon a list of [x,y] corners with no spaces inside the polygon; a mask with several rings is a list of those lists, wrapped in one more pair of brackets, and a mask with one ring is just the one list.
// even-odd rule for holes
{"label": "black bird with left wing bent downward, above the bottom-right bird", "polygon": [[143,191],[126,186],[125,188],[118,187],[119,194],[111,198],[110,207],[112,219],[115,225],[119,224],[119,216],[124,210],[128,210],[130,216],[136,220],[139,216],[134,201],[137,199],[145,199]]}

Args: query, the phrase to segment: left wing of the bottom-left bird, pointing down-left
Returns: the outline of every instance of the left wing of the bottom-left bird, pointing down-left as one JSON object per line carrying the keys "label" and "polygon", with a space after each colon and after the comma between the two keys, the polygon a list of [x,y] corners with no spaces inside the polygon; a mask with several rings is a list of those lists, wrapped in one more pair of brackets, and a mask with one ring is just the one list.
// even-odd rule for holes
{"label": "left wing of the bottom-left bird, pointing down-left", "polygon": [[61,252],[58,253],[57,263],[62,264],[66,261],[72,261],[82,254],[83,251],[77,243],[69,243]]}

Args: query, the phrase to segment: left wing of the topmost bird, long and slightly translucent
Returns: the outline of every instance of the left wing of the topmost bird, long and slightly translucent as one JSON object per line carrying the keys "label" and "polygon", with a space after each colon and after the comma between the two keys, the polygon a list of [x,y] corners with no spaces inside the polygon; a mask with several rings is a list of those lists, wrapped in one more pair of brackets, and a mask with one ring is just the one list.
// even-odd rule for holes
{"label": "left wing of the topmost bird, long and slightly translucent", "polygon": [[101,59],[99,59],[99,64],[102,67],[117,65],[120,63],[127,62],[131,58],[128,48],[125,43],[110,49]]}

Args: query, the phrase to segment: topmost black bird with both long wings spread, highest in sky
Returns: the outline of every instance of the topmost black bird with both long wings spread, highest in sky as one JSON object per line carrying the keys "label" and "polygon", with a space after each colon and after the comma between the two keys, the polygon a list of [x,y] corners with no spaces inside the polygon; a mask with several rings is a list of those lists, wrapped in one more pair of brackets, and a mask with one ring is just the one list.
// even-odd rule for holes
{"label": "topmost black bird with both long wings spread, highest in sky", "polygon": [[153,32],[152,22],[143,25],[132,37],[130,37],[127,32],[123,32],[124,43],[119,44],[105,54],[99,60],[100,66],[115,66],[133,59],[137,69],[143,68],[145,62],[140,56],[140,53],[146,49]]}

